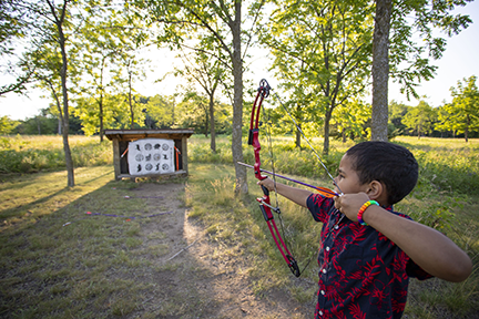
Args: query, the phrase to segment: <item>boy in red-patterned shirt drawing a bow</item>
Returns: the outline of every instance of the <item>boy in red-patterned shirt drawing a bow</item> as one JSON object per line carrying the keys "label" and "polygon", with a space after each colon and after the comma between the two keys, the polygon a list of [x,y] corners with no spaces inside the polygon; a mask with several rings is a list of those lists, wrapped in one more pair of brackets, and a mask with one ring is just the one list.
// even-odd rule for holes
{"label": "boy in red-patterned shirt drawing a bow", "polygon": [[407,148],[357,144],[343,156],[338,173],[335,191],[344,195],[334,198],[275,186],[269,178],[258,182],[324,224],[315,318],[400,318],[409,277],[462,281],[470,275],[470,258],[449,238],[393,212],[418,178]]}

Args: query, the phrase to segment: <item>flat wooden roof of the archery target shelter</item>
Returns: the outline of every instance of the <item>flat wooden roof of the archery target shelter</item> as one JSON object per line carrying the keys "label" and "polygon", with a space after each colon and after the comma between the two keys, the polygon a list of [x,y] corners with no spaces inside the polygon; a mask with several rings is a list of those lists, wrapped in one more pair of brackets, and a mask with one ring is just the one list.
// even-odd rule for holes
{"label": "flat wooden roof of the archery target shelter", "polygon": [[194,130],[191,128],[166,128],[166,130],[105,130],[105,136],[119,141],[136,141],[141,138],[169,138],[179,140],[184,136],[193,135]]}

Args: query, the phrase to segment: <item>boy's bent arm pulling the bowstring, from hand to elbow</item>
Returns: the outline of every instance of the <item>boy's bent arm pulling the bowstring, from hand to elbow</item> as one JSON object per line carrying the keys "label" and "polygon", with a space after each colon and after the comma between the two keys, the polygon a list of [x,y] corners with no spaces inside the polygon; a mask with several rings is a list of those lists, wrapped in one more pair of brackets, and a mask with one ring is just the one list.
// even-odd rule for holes
{"label": "boy's bent arm pulling the bowstring, from hand to elbow", "polygon": [[[335,197],[335,206],[351,220],[369,200],[365,193]],[[371,205],[363,214],[363,220],[388,237],[428,274],[453,282],[465,280],[472,271],[472,261],[452,240],[441,233],[419,223],[390,214]]]}

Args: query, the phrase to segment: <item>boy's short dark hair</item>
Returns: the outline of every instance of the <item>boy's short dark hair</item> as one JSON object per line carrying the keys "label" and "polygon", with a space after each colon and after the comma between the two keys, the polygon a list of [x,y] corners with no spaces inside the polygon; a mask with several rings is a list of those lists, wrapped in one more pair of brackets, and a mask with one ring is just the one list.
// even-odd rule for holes
{"label": "boy's short dark hair", "polygon": [[386,186],[388,204],[401,200],[416,186],[418,163],[404,146],[389,142],[359,143],[346,152],[361,184],[378,181]]}

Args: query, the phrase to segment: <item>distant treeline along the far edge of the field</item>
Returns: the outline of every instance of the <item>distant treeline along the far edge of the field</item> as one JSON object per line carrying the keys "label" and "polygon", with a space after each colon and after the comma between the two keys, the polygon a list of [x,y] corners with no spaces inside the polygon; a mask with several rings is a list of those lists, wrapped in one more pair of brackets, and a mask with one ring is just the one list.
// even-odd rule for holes
{"label": "distant treeline along the far edge of the field", "polygon": [[[476,79],[473,79],[476,80]],[[188,95],[191,97],[191,95]],[[124,97],[121,95],[106,96],[103,104],[104,128],[193,128],[195,133],[205,136],[210,133],[210,114],[206,97],[195,95],[194,99],[177,96],[134,96],[135,121],[131,125],[130,110]],[[460,103],[445,104],[432,107],[425,101],[416,106],[391,101],[389,103],[389,138],[394,136],[428,136],[428,137],[479,137],[479,125],[477,113],[461,111],[457,105]],[[336,140],[360,140],[370,137],[370,106],[351,105],[363,109],[363,115],[347,115],[335,117],[330,125],[330,136]],[[248,114],[251,103],[245,102],[245,114]],[[349,109],[353,112],[353,107]],[[23,121],[12,121],[8,116],[0,117],[0,134],[21,135],[50,135],[60,134],[60,122],[58,112],[51,106],[43,109],[39,115]],[[287,115],[281,107],[267,110],[266,124],[272,127],[273,134],[295,134]],[[359,113],[359,112],[358,112]],[[75,101],[70,113],[70,134],[98,135],[100,134],[100,119],[98,105],[94,100],[79,99]],[[346,116],[346,115],[345,115]],[[244,116],[244,130],[247,127]],[[309,116],[306,117],[312,117]],[[354,121],[351,121],[354,119]],[[468,119],[469,123],[468,123]],[[230,135],[232,133],[232,106],[224,103],[215,103],[215,132],[216,134]],[[304,128],[308,130],[309,136],[320,136],[322,120],[305,121]],[[246,133],[246,132],[245,132]]]}

